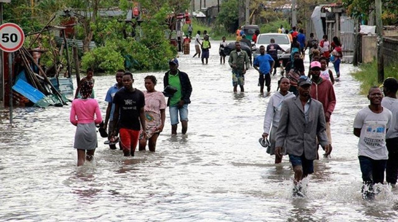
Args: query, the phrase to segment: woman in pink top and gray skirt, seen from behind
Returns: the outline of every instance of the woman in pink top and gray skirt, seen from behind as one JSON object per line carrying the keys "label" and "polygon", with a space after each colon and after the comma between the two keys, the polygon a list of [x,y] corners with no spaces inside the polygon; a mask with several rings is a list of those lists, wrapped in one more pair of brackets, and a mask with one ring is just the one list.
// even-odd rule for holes
{"label": "woman in pink top and gray skirt, seen from behind", "polygon": [[73,145],[77,149],[77,166],[91,161],[98,147],[96,124],[102,122],[102,116],[97,100],[90,98],[93,86],[89,81],[81,84],[82,98],[74,99],[70,110],[70,122],[77,126]]}

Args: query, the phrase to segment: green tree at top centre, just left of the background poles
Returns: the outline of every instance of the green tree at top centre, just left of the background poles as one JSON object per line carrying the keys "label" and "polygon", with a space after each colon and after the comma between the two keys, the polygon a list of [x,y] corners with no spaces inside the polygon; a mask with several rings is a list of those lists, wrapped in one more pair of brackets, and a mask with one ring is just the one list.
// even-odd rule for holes
{"label": "green tree at top centre, just left of the background poles", "polygon": [[220,8],[217,22],[223,25],[229,33],[233,33],[239,26],[238,0],[225,0]]}

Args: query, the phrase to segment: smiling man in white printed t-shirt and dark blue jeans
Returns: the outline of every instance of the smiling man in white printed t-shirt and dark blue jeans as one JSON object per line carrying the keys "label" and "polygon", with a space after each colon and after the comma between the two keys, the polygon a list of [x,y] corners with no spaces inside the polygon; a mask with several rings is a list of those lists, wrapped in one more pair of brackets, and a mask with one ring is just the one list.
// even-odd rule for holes
{"label": "smiling man in white printed t-shirt and dark blue jeans", "polygon": [[354,120],[354,135],[359,137],[358,158],[364,199],[374,198],[373,185],[383,183],[388,159],[386,132],[390,128],[392,114],[381,105],[382,98],[380,88],[369,89],[370,105],[360,110]]}

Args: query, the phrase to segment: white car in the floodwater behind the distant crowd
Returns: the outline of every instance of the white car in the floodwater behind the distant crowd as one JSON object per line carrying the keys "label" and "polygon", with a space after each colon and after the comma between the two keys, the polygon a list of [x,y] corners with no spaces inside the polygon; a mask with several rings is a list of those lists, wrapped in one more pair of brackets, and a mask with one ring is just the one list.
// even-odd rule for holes
{"label": "white car in the floodwater behind the distant crowd", "polygon": [[258,35],[256,42],[256,52],[254,52],[253,57],[256,58],[260,54],[260,46],[264,46],[267,49],[267,46],[271,43],[271,39],[275,40],[276,44],[279,44],[286,53],[282,51],[278,51],[278,58],[282,60],[282,65],[286,66],[287,62],[290,60],[290,40],[286,34],[279,33],[263,33]]}

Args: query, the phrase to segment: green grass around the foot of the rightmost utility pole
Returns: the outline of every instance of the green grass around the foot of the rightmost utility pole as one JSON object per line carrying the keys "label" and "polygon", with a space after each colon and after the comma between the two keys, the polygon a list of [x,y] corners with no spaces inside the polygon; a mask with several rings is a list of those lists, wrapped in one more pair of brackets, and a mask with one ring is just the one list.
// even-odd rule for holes
{"label": "green grass around the foot of the rightmost utility pole", "polygon": [[[377,79],[377,61],[368,64],[362,64],[359,71],[352,73],[353,77],[361,82],[361,94],[367,95],[373,86],[379,86],[381,83]],[[398,62],[384,67],[384,78],[394,77],[398,79]]]}

